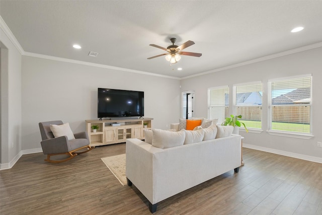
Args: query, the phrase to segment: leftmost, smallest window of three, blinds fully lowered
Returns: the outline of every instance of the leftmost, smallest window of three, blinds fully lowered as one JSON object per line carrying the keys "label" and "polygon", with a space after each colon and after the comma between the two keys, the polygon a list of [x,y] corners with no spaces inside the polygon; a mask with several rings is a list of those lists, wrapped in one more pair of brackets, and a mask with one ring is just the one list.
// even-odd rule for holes
{"label": "leftmost, smallest window of three, blinds fully lowered", "polygon": [[218,123],[229,116],[228,86],[208,89],[208,118],[218,119]]}

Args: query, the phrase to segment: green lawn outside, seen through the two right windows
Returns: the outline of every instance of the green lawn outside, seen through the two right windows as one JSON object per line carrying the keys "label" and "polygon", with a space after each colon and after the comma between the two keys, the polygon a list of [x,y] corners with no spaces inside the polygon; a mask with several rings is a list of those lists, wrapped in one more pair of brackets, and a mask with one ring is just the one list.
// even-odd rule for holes
{"label": "green lawn outside, seen through the two right windows", "polygon": [[[249,121],[249,120],[239,120],[239,121],[244,122],[247,128],[261,128],[261,124],[262,124],[262,122],[259,122],[259,121]],[[273,122],[272,129],[309,133],[310,125],[300,124],[300,123]]]}

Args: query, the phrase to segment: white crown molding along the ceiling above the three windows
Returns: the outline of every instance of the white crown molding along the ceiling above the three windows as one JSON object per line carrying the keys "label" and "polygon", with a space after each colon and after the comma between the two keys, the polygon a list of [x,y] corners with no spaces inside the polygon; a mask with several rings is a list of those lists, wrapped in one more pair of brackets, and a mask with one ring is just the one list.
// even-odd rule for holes
{"label": "white crown molding along the ceiling above the three windows", "polygon": [[279,52],[279,53],[276,53],[276,54],[270,54],[270,55],[267,55],[267,56],[264,56],[264,57],[259,57],[259,58],[256,58],[256,59],[252,59],[252,60],[248,60],[248,61],[244,61],[244,62],[224,66],[224,67],[221,67],[221,68],[212,69],[212,70],[209,70],[209,71],[205,71],[204,73],[198,73],[198,74],[195,74],[195,75],[186,76],[186,77],[181,78],[181,80],[189,79],[189,78],[193,78],[193,77],[198,77],[198,76],[203,76],[203,75],[207,75],[207,74],[211,74],[211,73],[216,73],[217,71],[222,71],[222,70],[227,70],[227,69],[230,69],[230,68],[235,68],[235,67],[239,67],[239,66],[243,66],[243,65],[257,63],[257,62],[261,62],[261,61],[264,61],[264,60],[269,60],[269,59],[273,59],[273,58],[276,58],[276,57],[282,57],[282,56],[285,56],[285,55],[294,54],[294,53],[297,53],[297,52],[306,51],[306,50],[313,49],[313,48],[318,48],[318,47],[322,47],[322,42],[302,46],[302,47],[299,47],[299,48],[294,48],[294,49]]}

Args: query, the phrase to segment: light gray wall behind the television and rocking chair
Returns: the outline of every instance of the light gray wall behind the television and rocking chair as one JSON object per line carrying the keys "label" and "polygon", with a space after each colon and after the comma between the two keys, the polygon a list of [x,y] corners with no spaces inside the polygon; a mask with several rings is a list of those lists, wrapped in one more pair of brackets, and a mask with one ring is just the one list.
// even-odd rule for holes
{"label": "light gray wall behind the television and rocking chair", "polygon": [[180,80],[23,56],[23,150],[41,147],[41,121],[84,131],[85,120],[98,119],[97,88],[144,91],[144,115],[154,118],[154,128],[167,129],[180,115]]}

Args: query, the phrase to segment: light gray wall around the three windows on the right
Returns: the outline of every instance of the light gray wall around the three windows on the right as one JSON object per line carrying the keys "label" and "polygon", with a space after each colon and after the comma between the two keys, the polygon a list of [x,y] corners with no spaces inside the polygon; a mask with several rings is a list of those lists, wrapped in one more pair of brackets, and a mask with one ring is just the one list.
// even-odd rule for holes
{"label": "light gray wall around the three windows on the right", "polygon": [[[208,75],[184,79],[181,81],[182,91],[195,91],[195,116],[207,117],[207,90],[211,87],[228,85],[230,93],[232,86],[238,83],[262,81],[263,83],[263,132],[240,134],[245,136],[246,144],[265,147],[290,153],[322,158],[322,148],[316,146],[322,141],[322,48],[310,49],[286,56],[281,56],[253,64],[217,71]],[[274,136],[266,132],[268,129],[268,98],[267,82],[270,79],[312,74],[312,128],[314,137],[299,139],[284,136]],[[231,97],[230,97],[231,98]],[[230,108],[230,111],[232,108]]]}

